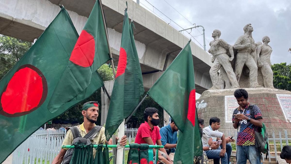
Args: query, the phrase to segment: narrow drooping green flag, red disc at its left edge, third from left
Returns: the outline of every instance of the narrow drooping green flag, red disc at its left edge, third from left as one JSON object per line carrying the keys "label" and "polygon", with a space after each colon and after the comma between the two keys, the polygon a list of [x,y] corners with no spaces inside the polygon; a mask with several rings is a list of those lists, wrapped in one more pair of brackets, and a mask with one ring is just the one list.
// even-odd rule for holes
{"label": "narrow drooping green flag, red disc at its left edge, third from left", "polygon": [[141,66],[133,37],[133,22],[129,25],[127,8],[123,19],[118,67],[105,124],[107,141],[139,104],[144,93]]}

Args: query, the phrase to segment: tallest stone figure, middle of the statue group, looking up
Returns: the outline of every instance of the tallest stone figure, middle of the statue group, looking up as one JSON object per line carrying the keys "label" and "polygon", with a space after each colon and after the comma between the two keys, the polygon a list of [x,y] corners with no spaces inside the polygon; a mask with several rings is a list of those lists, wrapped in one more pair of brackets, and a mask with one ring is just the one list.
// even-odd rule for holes
{"label": "tallest stone figure, middle of the statue group, looking up", "polygon": [[244,65],[249,68],[250,88],[260,88],[258,84],[258,67],[253,59],[251,53],[255,50],[255,41],[252,37],[253,27],[251,24],[244,26],[244,35],[239,36],[234,44],[234,48],[237,49],[237,59],[235,61],[235,75],[237,81],[242,74]]}

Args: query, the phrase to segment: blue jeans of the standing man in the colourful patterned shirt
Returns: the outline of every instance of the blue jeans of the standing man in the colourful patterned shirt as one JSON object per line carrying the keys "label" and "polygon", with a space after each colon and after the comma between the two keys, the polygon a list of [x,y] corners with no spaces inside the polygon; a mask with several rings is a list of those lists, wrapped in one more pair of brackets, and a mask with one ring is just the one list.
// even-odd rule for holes
{"label": "blue jeans of the standing man in the colourful patterned shirt", "polygon": [[251,164],[260,164],[260,154],[254,145],[252,146],[237,146],[236,151],[237,164],[246,164],[248,159]]}

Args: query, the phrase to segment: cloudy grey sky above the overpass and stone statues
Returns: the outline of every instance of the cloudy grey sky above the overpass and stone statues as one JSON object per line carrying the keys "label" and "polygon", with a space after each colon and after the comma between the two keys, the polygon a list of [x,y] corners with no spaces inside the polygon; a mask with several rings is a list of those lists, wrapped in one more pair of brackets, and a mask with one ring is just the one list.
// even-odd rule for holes
{"label": "cloudy grey sky above the overpass and stone statues", "polygon": [[[270,37],[269,45],[273,49],[272,64],[291,63],[291,53],[288,52],[291,46],[291,1],[289,0],[140,0],[140,5],[147,10],[154,11],[156,15],[178,30],[193,27],[194,23],[204,26],[207,50],[209,42],[213,40],[211,33],[214,29],[219,29],[220,38],[233,45],[237,38],[244,33],[244,25],[251,23],[254,28],[252,34],[255,42],[262,41],[263,36]],[[188,32],[191,32],[191,36],[194,36],[203,45],[203,36],[200,34],[202,28],[199,27],[198,30],[193,29],[192,32],[190,30]],[[184,34],[191,37],[186,32]],[[195,42],[197,43],[197,41]],[[199,45],[199,43],[197,44]]]}

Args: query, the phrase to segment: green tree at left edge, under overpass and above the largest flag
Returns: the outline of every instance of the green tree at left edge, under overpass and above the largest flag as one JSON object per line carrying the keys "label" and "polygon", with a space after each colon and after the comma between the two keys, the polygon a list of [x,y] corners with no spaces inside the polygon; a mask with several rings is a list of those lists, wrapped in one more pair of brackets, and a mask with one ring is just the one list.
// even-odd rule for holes
{"label": "green tree at left edge, under overpass and above the largest flag", "polygon": [[0,80],[31,46],[31,42],[0,34]]}

